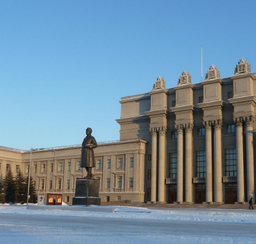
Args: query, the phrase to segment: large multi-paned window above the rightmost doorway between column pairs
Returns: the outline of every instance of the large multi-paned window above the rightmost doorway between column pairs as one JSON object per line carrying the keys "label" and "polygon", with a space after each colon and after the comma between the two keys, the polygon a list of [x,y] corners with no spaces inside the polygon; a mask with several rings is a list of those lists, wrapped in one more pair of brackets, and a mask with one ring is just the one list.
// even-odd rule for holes
{"label": "large multi-paned window above the rightmost doorway between column pairs", "polygon": [[225,149],[225,175],[237,176],[237,150],[236,148]]}

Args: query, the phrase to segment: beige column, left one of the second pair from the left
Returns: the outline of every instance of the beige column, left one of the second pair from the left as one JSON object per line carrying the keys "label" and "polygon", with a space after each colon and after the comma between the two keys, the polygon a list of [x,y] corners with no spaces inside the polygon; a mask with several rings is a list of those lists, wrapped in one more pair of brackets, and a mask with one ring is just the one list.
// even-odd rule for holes
{"label": "beige column, left one of the second pair from the left", "polygon": [[177,202],[183,202],[183,125],[175,125],[177,130]]}

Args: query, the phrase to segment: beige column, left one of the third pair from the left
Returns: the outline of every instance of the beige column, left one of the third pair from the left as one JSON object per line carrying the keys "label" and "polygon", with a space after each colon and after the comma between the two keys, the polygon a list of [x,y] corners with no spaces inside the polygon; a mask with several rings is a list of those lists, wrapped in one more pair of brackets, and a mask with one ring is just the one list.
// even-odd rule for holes
{"label": "beige column, left one of the third pair from the left", "polygon": [[212,121],[204,121],[206,155],[206,201],[212,202]]}

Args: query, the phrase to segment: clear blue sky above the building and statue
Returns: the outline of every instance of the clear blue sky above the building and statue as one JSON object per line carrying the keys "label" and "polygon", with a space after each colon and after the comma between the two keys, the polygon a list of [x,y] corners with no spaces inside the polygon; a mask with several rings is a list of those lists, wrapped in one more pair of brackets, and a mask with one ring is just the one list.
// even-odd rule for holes
{"label": "clear blue sky above the building and statue", "polygon": [[119,139],[121,97],[211,64],[256,72],[256,1],[0,0],[0,146]]}

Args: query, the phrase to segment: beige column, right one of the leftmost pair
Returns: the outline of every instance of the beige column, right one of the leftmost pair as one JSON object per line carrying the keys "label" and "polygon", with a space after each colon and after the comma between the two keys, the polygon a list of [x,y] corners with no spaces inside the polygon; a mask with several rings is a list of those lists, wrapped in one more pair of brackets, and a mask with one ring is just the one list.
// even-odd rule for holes
{"label": "beige column, right one of the leftmost pair", "polygon": [[158,133],[159,133],[158,201],[159,202],[165,202],[164,179],[166,178],[166,131],[167,131],[166,126],[159,127],[159,130],[158,130]]}

